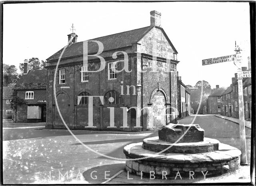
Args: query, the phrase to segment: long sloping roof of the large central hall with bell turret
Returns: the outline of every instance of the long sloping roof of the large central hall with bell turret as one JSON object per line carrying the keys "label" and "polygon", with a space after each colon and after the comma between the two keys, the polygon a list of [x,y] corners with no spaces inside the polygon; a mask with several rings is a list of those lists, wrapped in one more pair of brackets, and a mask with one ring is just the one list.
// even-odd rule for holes
{"label": "long sloping roof of the large central hall with bell turret", "polygon": [[[153,26],[154,27],[154,26]],[[104,49],[103,51],[108,51],[112,49],[118,49],[122,47],[128,47],[132,46],[132,44],[139,42],[143,36],[145,36],[146,33],[148,33],[152,28],[152,26],[147,26],[144,28],[138,28],[135,30],[129,30],[126,32],[121,32],[117,34],[111,34],[108,36],[103,36],[100,38],[94,38],[87,41],[99,41],[103,44]],[[160,27],[158,27],[160,28]],[[178,53],[172,43],[170,42],[168,36],[165,34],[164,30],[160,28],[164,35],[166,36],[168,42],[173,47],[174,52]],[[59,59],[60,54],[62,52],[62,49],[60,49],[58,52],[54,53],[52,56],[50,56],[47,61],[56,60]],[[96,42],[88,42],[88,54],[97,53],[98,52],[98,44]],[[66,47],[62,58],[66,57],[73,57],[83,54],[83,42],[77,42],[74,44],[71,44],[70,46]]]}

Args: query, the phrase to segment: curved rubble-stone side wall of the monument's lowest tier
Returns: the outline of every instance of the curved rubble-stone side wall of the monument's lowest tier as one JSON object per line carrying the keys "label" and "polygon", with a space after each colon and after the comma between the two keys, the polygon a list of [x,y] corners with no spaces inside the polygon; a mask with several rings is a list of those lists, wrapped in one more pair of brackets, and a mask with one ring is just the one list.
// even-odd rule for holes
{"label": "curved rubble-stone side wall of the monument's lowest tier", "polygon": [[[130,157],[126,156],[126,158]],[[162,177],[163,175],[173,177],[176,176],[179,172],[182,177],[188,178],[190,174],[200,177],[204,176],[204,174],[206,174],[206,176],[212,176],[216,174],[232,172],[236,170],[239,165],[240,157],[223,162],[188,164],[154,162],[147,160],[128,160],[126,161],[126,170],[137,175],[141,175],[142,172],[144,176],[148,176],[148,174],[150,174],[150,171],[152,171],[152,174],[160,177]]]}

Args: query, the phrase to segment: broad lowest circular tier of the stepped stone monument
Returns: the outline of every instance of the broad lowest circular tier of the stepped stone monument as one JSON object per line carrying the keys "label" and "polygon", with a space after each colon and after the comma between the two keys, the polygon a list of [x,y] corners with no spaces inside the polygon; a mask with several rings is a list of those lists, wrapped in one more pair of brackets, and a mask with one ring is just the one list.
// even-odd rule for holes
{"label": "broad lowest circular tier of the stepped stone monument", "polygon": [[[241,151],[227,144],[219,144],[219,150],[196,154],[161,153],[156,154],[142,148],[142,142],[124,147],[126,170],[137,175],[177,176],[183,177],[209,176],[232,172],[240,166]],[[192,172],[190,172],[192,171]],[[208,172],[207,172],[208,171]],[[207,172],[207,173],[206,173]],[[179,177],[179,176],[178,176]]]}

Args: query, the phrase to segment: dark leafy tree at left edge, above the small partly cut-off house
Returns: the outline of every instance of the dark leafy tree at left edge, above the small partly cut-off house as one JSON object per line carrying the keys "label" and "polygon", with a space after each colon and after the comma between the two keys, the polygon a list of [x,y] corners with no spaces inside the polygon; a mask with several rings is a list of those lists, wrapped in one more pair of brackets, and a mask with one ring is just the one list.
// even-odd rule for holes
{"label": "dark leafy tree at left edge, above the small partly cut-off house", "polygon": [[3,86],[10,86],[18,81],[18,73],[15,65],[3,64]]}

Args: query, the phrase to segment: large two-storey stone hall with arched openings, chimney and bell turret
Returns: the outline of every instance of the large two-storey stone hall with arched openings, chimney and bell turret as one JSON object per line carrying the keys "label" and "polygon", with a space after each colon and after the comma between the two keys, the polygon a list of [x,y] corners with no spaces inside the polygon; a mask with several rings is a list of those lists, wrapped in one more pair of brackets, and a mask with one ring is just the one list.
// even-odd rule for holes
{"label": "large two-storey stone hall with arched openings, chimney and bell turret", "polygon": [[[70,129],[141,131],[177,123],[178,52],[161,27],[161,13],[149,17],[150,26],[88,40],[87,65],[84,42],[68,35],[65,50],[47,59],[46,128],[65,128],[62,118]],[[98,52],[95,41],[104,46],[102,70],[99,57],[90,56]],[[126,54],[130,72],[122,70]]]}

